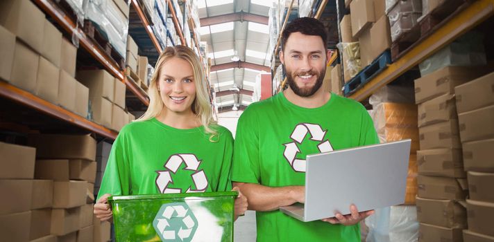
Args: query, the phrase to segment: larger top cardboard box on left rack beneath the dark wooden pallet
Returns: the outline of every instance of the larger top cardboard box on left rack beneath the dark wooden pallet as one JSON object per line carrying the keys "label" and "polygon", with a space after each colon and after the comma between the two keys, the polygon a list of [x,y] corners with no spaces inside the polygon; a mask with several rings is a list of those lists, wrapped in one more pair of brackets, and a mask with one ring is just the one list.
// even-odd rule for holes
{"label": "larger top cardboard box on left rack beneath the dark wooden pallet", "polygon": [[76,79],[90,89],[90,97],[106,97],[114,101],[115,78],[105,70],[78,71]]}

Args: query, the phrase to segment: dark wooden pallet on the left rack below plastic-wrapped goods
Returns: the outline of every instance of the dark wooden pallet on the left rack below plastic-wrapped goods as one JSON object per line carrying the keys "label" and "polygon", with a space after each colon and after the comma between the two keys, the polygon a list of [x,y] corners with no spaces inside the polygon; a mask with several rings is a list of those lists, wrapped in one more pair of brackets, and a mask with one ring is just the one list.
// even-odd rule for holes
{"label": "dark wooden pallet on the left rack below plastic-wrapped goods", "polygon": [[114,62],[116,62],[117,65],[121,68],[121,70],[125,69],[125,57],[122,57],[117,52],[117,50],[113,48],[113,46],[110,44],[110,41],[108,41],[108,37],[106,35],[103,35],[103,33],[97,26],[94,25],[92,21],[88,19],[84,20],[83,32],[86,34],[87,37],[92,39],[96,46],[99,46],[99,48],[103,50],[104,53],[110,56],[114,60]]}

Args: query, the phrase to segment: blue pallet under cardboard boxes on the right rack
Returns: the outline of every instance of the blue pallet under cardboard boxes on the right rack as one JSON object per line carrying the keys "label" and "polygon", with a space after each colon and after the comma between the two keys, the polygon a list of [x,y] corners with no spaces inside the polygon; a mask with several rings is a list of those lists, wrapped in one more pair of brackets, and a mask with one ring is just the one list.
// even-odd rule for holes
{"label": "blue pallet under cardboard boxes on the right rack", "polygon": [[377,59],[375,59],[370,65],[366,66],[362,71],[360,71],[355,77],[347,82],[343,86],[343,94],[348,96],[358,89],[360,89],[364,84],[369,82],[375,75],[381,73],[391,64],[391,53],[389,50],[384,51]]}

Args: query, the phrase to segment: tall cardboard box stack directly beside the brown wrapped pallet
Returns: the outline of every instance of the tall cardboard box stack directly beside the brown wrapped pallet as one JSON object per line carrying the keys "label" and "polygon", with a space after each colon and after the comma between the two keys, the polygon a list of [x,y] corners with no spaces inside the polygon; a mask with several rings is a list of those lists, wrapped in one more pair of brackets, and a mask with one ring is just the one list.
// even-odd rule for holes
{"label": "tall cardboard box stack directly beside the brown wrapped pallet", "polygon": [[415,81],[420,151],[417,213],[421,241],[461,241],[466,229],[467,174],[463,170],[454,87],[486,68],[447,66]]}

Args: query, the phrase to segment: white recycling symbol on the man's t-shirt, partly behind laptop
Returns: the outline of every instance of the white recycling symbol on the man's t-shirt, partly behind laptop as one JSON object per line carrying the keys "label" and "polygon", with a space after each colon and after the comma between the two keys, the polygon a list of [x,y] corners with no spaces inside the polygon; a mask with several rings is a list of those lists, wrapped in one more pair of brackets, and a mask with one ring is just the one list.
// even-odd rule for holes
{"label": "white recycling symbol on the man's t-shirt, partly behind laptop", "polygon": [[327,130],[323,131],[323,129],[319,124],[309,124],[309,123],[297,124],[297,126],[295,127],[295,129],[293,129],[293,132],[291,133],[290,136],[293,142],[284,144],[284,152],[283,152],[284,158],[287,159],[291,168],[294,171],[305,172],[305,160],[297,159],[296,156],[297,153],[300,152],[300,149],[298,149],[297,144],[302,144],[305,136],[307,136],[307,133],[310,134],[311,140],[321,142],[319,143],[319,145],[317,145],[317,148],[319,149],[319,151],[321,151],[321,153],[333,150],[330,140],[327,139],[324,140],[324,136],[326,135],[326,132]]}

